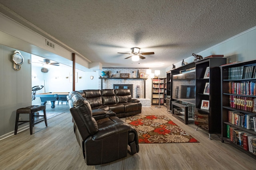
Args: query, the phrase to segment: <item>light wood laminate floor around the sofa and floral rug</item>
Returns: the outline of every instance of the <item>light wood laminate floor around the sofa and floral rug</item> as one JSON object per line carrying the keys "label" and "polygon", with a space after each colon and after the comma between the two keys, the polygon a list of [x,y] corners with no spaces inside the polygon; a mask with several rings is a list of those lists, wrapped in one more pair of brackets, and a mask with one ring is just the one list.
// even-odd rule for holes
{"label": "light wood laminate floor around the sofa and floral rug", "polygon": [[[256,159],[221,143],[194,125],[184,125],[165,107],[142,107],[143,115],[167,115],[200,143],[140,144],[140,152],[108,164],[87,166],[66,112],[0,141],[1,170],[255,170]],[[47,111],[47,110],[46,110]]]}

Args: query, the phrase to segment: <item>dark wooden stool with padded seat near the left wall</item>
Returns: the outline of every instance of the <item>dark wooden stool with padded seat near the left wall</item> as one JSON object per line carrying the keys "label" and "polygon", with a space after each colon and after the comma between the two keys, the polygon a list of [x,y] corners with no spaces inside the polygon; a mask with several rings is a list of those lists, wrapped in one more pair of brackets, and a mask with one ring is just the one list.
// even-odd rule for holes
{"label": "dark wooden stool with padded seat near the left wall", "polygon": [[[44,111],[44,115],[35,115],[34,113],[37,111],[43,110]],[[20,114],[29,114],[29,120],[27,121],[19,121],[19,117]],[[34,123],[34,117],[44,117],[44,119]],[[47,119],[46,119],[46,111],[45,111],[45,106],[44,105],[32,105],[32,106],[28,106],[28,107],[23,107],[20,109],[17,109],[16,111],[16,123],[15,123],[15,130],[14,130],[14,135],[17,134],[18,131],[18,126],[22,125],[24,123],[29,122],[29,129],[30,129],[30,135],[32,135],[33,133],[33,126],[37,123],[40,123],[44,121],[45,125],[47,126]],[[19,123],[22,122],[22,123]]]}

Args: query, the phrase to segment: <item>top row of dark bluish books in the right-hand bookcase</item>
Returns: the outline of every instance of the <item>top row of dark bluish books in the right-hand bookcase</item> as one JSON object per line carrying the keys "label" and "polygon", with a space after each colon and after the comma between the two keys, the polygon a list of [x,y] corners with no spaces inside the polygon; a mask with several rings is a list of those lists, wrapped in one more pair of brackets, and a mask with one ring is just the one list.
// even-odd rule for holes
{"label": "top row of dark bluish books in the right-hand bookcase", "polygon": [[256,66],[237,66],[228,68],[228,79],[256,78]]}

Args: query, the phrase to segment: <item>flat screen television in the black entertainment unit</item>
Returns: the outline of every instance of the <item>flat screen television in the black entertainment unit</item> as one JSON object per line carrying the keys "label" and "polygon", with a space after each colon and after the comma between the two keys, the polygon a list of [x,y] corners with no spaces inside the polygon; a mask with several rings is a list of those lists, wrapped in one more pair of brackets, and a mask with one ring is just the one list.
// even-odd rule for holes
{"label": "flat screen television in the black entertainment unit", "polygon": [[196,72],[186,72],[172,76],[172,98],[196,104]]}

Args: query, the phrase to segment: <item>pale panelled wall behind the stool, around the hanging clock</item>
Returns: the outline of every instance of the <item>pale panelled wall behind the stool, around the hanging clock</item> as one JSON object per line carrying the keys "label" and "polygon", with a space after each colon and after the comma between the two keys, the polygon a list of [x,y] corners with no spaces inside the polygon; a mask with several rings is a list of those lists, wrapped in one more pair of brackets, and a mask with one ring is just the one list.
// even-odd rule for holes
{"label": "pale panelled wall behind the stool, around the hanging clock", "polygon": [[0,45],[0,138],[14,133],[16,109],[31,105],[30,54],[20,51],[24,63],[16,71],[12,61],[14,51],[16,49]]}

